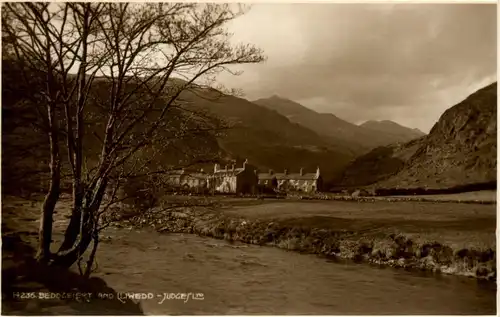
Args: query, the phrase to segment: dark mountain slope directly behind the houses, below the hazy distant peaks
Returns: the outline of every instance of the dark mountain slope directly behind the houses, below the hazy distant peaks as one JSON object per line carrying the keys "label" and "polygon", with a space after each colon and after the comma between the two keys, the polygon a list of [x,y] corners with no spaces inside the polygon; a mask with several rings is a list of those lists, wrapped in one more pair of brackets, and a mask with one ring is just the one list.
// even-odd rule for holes
{"label": "dark mountain slope directly behind the houses, below the hazy distant peaks", "polygon": [[355,157],[347,148],[246,99],[208,90],[184,92],[182,98],[193,109],[228,121],[231,128],[218,138],[220,148],[228,159],[248,159],[260,170],[315,171],[319,166],[324,178],[332,180]]}

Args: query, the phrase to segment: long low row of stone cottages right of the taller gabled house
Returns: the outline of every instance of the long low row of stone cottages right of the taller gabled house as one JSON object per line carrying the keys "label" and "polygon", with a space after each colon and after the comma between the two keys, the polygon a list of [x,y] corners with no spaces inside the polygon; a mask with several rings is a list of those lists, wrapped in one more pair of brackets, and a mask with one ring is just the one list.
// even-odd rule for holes
{"label": "long low row of stone cottages right of the taller gabled house", "polygon": [[285,169],[283,173],[258,173],[259,185],[265,188],[277,189],[280,191],[296,192],[317,192],[322,190],[323,179],[319,167],[316,173],[304,173],[301,168],[299,173],[288,173]]}

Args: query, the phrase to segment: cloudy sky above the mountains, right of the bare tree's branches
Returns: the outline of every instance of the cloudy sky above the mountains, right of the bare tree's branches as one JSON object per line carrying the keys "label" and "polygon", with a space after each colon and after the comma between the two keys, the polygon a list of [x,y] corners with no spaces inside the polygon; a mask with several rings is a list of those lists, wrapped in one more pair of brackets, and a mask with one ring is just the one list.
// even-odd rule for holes
{"label": "cloudy sky above the mountains, right of the bare tree's branches", "polygon": [[429,132],[496,81],[495,4],[254,4],[228,25],[267,61],[223,75],[255,100],[278,95],[352,123],[393,120]]}

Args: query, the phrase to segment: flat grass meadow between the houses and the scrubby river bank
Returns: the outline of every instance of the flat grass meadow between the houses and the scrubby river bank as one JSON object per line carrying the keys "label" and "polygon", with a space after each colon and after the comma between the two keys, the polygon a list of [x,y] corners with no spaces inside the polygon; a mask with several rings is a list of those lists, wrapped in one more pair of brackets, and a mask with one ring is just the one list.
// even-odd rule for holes
{"label": "flat grass meadow between the houses and the scrubby river bank", "polygon": [[274,202],[226,209],[231,215],[363,235],[404,233],[453,249],[493,248],[496,205],[430,202]]}

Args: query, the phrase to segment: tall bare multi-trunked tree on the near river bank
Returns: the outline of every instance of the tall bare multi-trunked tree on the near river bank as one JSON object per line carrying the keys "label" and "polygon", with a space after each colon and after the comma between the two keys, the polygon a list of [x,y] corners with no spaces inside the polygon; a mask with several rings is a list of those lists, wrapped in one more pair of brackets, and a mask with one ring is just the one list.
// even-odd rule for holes
{"label": "tall bare multi-trunked tree on the near river bank", "polygon": [[[117,171],[126,166],[128,172],[138,173],[148,166],[137,164],[140,153],[186,134],[189,129],[183,124],[190,117],[180,120],[179,114],[186,112],[176,109],[189,110],[183,99],[187,91],[213,86],[216,75],[231,72],[232,65],[264,60],[259,49],[230,42],[225,25],[244,12],[245,8],[229,4],[3,5],[2,36],[9,39],[24,78],[34,71],[44,76],[43,86],[30,97],[34,111],[43,118],[50,145],[40,261],[69,267],[92,241],[93,257],[104,194]],[[100,148],[92,156],[84,140],[90,137],[88,125],[96,116],[92,131]],[[213,128],[207,124],[197,133]],[[63,156],[71,171],[73,209],[65,239],[51,254]]]}

